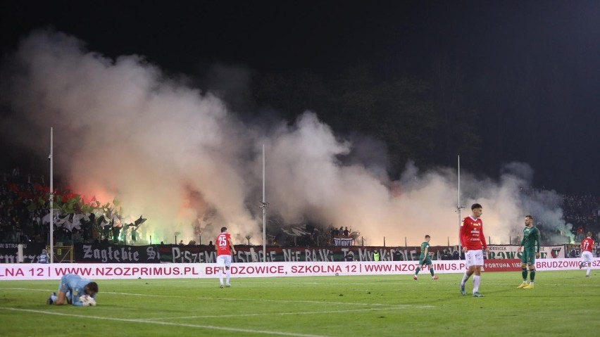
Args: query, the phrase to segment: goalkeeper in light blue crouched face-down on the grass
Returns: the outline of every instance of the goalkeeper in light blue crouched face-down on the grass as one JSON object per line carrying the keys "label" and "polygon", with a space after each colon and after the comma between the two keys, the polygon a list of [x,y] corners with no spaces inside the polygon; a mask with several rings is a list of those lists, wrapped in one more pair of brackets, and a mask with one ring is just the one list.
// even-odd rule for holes
{"label": "goalkeeper in light blue crouched face-down on the grass", "polygon": [[66,274],[61,277],[61,285],[58,286],[58,295],[52,293],[50,298],[46,300],[46,303],[89,307],[96,305],[96,293],[98,293],[98,284],[96,282],[83,279],[77,274]]}

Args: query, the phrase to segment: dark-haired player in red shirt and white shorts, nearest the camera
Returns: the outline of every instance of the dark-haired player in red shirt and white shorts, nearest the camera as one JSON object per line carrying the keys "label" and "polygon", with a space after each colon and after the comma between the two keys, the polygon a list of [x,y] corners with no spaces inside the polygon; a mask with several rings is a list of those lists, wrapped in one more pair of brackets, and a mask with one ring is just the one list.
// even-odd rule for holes
{"label": "dark-haired player in red shirt and white shorts, nearest the camera", "polygon": [[485,243],[483,222],[480,218],[483,212],[482,207],[480,204],[474,203],[471,206],[471,211],[473,215],[465,217],[461,222],[461,246],[463,246],[468,267],[463,276],[463,281],[461,281],[461,293],[465,295],[465,284],[469,277],[475,274],[473,275],[473,297],[483,297],[479,293],[481,266],[483,265],[482,248],[486,254],[489,253],[489,250],[487,250],[487,243]]}

